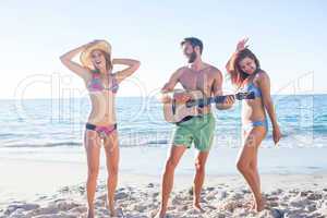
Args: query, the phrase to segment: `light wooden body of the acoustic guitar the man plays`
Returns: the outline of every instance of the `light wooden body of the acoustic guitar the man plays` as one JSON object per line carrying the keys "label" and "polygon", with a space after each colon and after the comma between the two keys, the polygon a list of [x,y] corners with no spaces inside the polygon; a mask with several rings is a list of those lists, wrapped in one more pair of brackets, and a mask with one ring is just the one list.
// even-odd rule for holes
{"label": "light wooden body of the acoustic guitar the man plays", "polygon": [[[178,93],[191,94],[192,99],[202,99],[204,97],[201,90],[174,90],[173,96]],[[187,116],[198,116],[198,108],[186,107],[185,104],[178,104],[174,100],[164,104],[164,117],[167,122],[177,123]]]}

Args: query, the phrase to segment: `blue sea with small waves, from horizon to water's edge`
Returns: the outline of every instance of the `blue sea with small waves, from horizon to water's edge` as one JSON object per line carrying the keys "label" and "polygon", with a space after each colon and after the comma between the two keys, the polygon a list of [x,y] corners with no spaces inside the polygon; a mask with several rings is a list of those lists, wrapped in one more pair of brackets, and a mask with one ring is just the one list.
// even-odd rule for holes
{"label": "blue sea with small waves, from horizon to water's edge", "polygon": [[[283,138],[280,147],[327,146],[327,95],[274,96]],[[0,100],[0,148],[80,147],[89,111],[87,98]],[[214,109],[215,148],[241,146],[241,104]],[[121,147],[168,146],[173,124],[164,120],[161,105],[152,98],[117,100]],[[263,147],[272,147],[271,126]]]}

